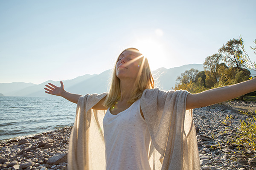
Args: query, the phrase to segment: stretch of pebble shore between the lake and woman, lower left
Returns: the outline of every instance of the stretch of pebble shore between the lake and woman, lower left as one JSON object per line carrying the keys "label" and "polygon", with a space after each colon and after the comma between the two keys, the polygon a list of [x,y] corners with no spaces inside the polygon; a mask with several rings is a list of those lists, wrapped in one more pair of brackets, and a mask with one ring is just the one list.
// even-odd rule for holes
{"label": "stretch of pebble shore between the lake and woman, lower left", "polygon": [[72,127],[1,142],[0,170],[67,170]]}

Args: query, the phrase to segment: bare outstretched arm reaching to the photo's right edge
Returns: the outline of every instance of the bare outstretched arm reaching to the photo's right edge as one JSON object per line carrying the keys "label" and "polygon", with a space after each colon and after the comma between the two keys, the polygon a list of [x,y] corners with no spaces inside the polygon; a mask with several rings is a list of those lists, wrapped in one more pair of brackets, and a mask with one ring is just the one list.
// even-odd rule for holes
{"label": "bare outstretched arm reaching to the photo's right edge", "polygon": [[186,109],[213,105],[234,99],[252,91],[256,91],[256,78],[235,85],[210,89],[198,94],[189,94],[186,99]]}

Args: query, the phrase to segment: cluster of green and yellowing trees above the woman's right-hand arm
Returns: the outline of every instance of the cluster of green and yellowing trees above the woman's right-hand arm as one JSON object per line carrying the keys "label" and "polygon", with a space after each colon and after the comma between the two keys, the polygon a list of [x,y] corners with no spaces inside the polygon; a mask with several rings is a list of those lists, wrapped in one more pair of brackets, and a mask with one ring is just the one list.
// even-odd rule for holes
{"label": "cluster of green and yellowing trees above the woman's right-hand arm", "polygon": [[[207,89],[233,85],[250,79],[250,71],[244,66],[246,61],[251,60],[250,58],[245,59],[249,56],[246,55],[246,52],[243,54],[244,45],[240,42],[242,42],[241,37],[240,40],[229,40],[219,49],[219,53],[206,57],[204,71],[199,72],[194,68],[186,70],[177,77],[175,90],[183,89],[190,93],[200,93]],[[256,54],[256,47],[252,49]],[[253,64],[255,65],[255,62]]]}

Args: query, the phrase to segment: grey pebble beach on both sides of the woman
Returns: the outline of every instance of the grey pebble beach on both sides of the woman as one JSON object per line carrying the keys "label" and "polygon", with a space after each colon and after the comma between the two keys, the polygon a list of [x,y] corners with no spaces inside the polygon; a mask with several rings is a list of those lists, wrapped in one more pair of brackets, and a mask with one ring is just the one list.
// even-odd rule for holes
{"label": "grey pebble beach on both sides of the woman", "polygon": [[[256,170],[256,152],[232,142],[240,120],[249,118],[233,110],[232,105],[256,109],[256,102],[231,101],[227,105],[194,109],[201,170]],[[226,117],[230,121],[225,122]],[[0,170],[67,170],[71,130],[69,126],[0,143]]]}

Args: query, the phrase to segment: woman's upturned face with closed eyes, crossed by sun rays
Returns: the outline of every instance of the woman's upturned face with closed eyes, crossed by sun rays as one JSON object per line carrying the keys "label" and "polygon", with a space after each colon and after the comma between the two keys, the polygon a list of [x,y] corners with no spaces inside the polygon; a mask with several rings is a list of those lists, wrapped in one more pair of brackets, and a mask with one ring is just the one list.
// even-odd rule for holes
{"label": "woman's upturned face with closed eyes, crossed by sun rays", "polygon": [[142,62],[138,51],[123,51],[116,63],[116,76],[119,79],[130,78],[136,80]]}

